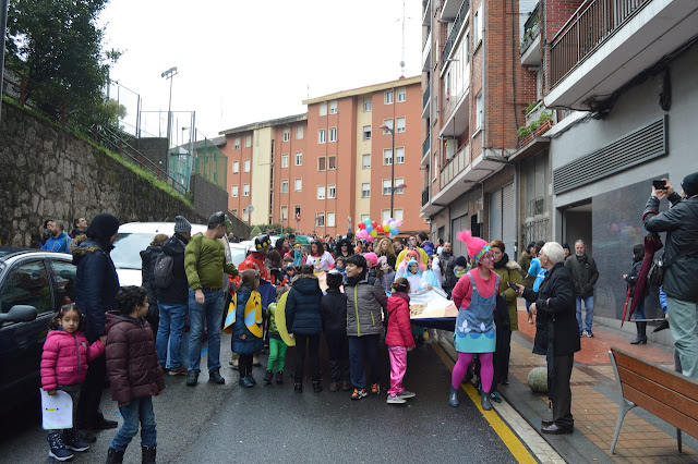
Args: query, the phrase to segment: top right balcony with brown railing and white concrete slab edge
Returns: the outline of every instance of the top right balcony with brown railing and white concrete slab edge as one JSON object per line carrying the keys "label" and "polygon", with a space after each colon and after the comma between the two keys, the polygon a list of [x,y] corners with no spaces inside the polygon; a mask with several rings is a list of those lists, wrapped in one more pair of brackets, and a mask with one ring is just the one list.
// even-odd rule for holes
{"label": "top right balcony with brown railing and white concrete slab edge", "polygon": [[589,0],[551,41],[545,105],[591,110],[696,30],[695,0]]}

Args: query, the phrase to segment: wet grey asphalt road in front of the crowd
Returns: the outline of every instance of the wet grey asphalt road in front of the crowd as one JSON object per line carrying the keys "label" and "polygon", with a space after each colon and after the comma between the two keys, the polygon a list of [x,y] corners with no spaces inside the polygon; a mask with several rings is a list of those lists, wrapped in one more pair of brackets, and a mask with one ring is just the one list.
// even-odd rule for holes
{"label": "wet grey asphalt road in front of the crowd", "polygon": [[[184,377],[166,376],[167,389],[154,400],[158,462],[516,462],[462,390],[460,407],[448,405],[450,371],[429,345],[409,354],[405,386],[417,396],[405,405],[385,402],[386,350],[382,350],[383,392],[353,402],[348,392],[329,392],[327,379],[322,393],[312,392],[310,379],[302,394],[293,393],[288,377],[284,386],[242,389],[237,371],[228,366],[229,335],[222,335],[221,345],[225,386],[207,382],[205,373],[195,388],[186,387]],[[292,359],[289,350],[287,373]],[[322,366],[327,373],[326,359]],[[264,363],[254,369],[260,383],[263,375]],[[121,424],[108,390],[103,411]],[[28,405],[1,418],[0,462],[52,462],[37,417],[38,405]],[[75,453],[72,462],[104,462],[115,434],[116,429],[99,432],[91,450]],[[137,436],[124,462],[141,462]]]}

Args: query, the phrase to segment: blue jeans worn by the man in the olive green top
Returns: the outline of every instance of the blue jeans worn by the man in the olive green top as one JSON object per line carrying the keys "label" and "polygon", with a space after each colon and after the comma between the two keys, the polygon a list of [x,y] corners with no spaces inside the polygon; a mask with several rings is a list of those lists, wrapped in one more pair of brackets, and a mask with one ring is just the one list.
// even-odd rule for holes
{"label": "blue jeans worn by the man in the olive green top", "polygon": [[220,368],[220,319],[222,318],[222,290],[204,290],[204,304],[196,303],[196,292],[189,289],[189,370],[201,373],[201,344],[204,320],[208,328],[208,371]]}

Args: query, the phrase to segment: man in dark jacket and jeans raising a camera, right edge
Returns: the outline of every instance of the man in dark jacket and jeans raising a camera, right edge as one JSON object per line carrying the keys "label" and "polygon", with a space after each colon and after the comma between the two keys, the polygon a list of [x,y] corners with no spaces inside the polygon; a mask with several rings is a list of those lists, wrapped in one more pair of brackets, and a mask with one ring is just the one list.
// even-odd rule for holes
{"label": "man in dark jacket and jeans raising a camera, right edge", "polygon": [[[667,179],[662,181],[663,185],[652,182],[642,221],[648,232],[666,232],[663,288],[669,327],[683,374],[698,379],[698,172],[684,178],[681,196]],[[660,213],[663,198],[672,206]]]}

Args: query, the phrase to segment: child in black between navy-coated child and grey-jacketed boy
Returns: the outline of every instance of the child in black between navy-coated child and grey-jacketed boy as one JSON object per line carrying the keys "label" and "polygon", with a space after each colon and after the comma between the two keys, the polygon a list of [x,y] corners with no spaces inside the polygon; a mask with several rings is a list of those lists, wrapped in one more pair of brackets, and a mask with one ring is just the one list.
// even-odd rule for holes
{"label": "child in black between navy-coated child and grey-jacketed boy", "polygon": [[327,293],[323,295],[320,314],[329,350],[329,391],[349,391],[349,341],[347,339],[347,295],[339,291],[344,276],[338,270],[327,272]]}

